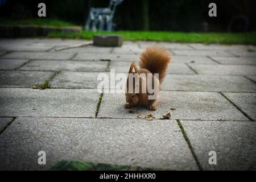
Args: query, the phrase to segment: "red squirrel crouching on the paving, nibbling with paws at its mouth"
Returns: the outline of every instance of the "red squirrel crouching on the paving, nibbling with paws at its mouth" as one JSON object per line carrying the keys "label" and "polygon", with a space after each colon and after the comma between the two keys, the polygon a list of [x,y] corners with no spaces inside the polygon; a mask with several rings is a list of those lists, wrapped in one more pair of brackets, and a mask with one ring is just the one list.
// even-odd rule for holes
{"label": "red squirrel crouching on the paving, nibbling with paws at its mouth", "polygon": [[[136,105],[146,106],[148,110],[156,110],[156,102],[159,97],[160,86],[171,63],[171,56],[167,49],[159,46],[147,47],[142,52],[139,59],[139,68],[135,62],[131,63],[126,82],[126,104],[125,108],[131,108]],[[133,72],[133,68],[135,72]],[[156,74],[158,73],[158,75]],[[137,79],[135,78],[137,76]],[[131,81],[131,84],[129,84]],[[130,85],[130,90],[129,90]],[[143,92],[143,85],[146,90]],[[149,92],[149,88],[154,88],[154,93]],[[131,88],[132,87],[132,88]],[[136,90],[137,89],[137,90]],[[151,97],[154,95],[155,97]],[[153,99],[152,99],[153,98]]]}

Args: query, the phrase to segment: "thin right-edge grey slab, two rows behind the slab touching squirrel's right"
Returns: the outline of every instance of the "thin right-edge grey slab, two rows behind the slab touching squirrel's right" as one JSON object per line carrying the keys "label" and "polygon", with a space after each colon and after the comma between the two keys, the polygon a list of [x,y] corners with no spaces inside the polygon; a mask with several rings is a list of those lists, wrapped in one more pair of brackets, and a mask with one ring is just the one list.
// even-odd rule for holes
{"label": "thin right-edge grey slab, two rows behind the slab touching squirrel's right", "polygon": [[210,57],[221,64],[256,65],[254,57]]}

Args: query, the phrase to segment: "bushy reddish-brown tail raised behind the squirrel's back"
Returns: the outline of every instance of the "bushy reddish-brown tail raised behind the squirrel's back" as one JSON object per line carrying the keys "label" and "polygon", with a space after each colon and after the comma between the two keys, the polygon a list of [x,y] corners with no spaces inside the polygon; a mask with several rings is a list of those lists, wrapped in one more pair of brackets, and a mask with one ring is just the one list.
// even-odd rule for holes
{"label": "bushy reddish-brown tail raised behind the squirrel's back", "polygon": [[171,56],[167,49],[160,46],[150,46],[142,52],[139,67],[147,69],[151,73],[159,73],[159,81],[162,83],[170,62]]}

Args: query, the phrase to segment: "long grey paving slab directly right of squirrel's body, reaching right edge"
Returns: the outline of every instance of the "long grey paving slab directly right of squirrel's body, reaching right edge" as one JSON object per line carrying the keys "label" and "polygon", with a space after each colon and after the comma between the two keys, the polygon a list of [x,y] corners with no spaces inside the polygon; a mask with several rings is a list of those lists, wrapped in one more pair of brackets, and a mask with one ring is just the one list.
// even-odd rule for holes
{"label": "long grey paving slab directly right of squirrel's body, reaching right edge", "polygon": [[256,84],[243,76],[167,75],[162,89],[201,92],[256,92]]}

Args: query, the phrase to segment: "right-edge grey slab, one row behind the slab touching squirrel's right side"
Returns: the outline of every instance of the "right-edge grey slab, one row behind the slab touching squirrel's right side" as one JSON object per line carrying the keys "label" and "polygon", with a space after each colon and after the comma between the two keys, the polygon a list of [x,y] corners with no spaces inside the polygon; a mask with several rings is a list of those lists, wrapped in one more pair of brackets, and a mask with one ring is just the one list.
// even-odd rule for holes
{"label": "right-edge grey slab, one row behind the slab touching squirrel's right side", "polygon": [[189,64],[199,74],[204,75],[256,75],[256,66],[254,65],[206,65]]}

